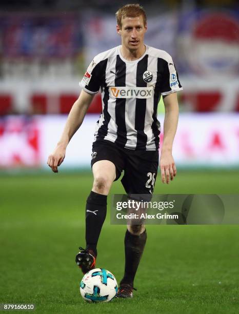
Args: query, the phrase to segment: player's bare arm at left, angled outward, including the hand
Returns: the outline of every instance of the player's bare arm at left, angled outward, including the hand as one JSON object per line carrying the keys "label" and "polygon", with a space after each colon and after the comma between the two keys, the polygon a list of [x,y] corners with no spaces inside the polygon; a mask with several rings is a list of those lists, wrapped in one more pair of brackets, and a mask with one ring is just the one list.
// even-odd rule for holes
{"label": "player's bare arm at left, angled outward, including the hand", "polygon": [[53,172],[58,172],[57,167],[64,161],[67,145],[74,133],[82,125],[93,97],[94,94],[82,90],[72,106],[61,139],[57,143],[55,150],[48,157],[47,164],[51,167]]}

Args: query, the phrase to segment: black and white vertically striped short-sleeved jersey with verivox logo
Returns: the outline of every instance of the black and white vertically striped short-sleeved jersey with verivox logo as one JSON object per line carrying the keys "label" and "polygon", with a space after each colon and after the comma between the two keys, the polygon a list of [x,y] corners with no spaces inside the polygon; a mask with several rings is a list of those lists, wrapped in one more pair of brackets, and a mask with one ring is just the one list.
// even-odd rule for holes
{"label": "black and white vertically striped short-sleeved jersey with verivox logo", "polygon": [[126,60],[121,46],[102,52],[90,63],[80,85],[91,94],[101,89],[102,113],[94,141],[108,140],[129,149],[156,150],[161,95],[182,89],[171,56],[146,46],[134,61]]}

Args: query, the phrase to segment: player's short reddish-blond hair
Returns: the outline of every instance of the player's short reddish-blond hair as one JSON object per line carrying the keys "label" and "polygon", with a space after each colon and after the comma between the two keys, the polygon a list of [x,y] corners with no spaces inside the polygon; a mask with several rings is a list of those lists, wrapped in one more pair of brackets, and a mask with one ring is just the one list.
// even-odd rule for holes
{"label": "player's short reddish-blond hair", "polygon": [[147,17],[146,17],[145,10],[139,4],[125,5],[121,7],[120,9],[118,9],[118,11],[115,13],[115,16],[116,16],[117,24],[120,28],[122,27],[122,20],[125,17],[142,16],[144,20],[144,26],[146,26],[147,24]]}

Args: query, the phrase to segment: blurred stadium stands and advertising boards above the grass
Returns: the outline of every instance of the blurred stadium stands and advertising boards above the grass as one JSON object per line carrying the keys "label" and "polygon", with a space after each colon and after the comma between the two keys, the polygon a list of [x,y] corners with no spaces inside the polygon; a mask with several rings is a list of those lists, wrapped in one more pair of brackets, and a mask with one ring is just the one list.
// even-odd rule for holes
{"label": "blurred stadium stands and advertising boards above the grass", "polygon": [[[120,44],[124,2],[11,1],[0,6],[0,167],[44,169],[92,58]],[[144,4],[144,3],[143,3]],[[147,1],[146,43],[168,51],[184,87],[178,167],[239,165],[239,12],[234,1]],[[97,94],[62,168],[90,168]],[[159,115],[163,123],[163,104]],[[161,141],[163,133],[161,134]]]}

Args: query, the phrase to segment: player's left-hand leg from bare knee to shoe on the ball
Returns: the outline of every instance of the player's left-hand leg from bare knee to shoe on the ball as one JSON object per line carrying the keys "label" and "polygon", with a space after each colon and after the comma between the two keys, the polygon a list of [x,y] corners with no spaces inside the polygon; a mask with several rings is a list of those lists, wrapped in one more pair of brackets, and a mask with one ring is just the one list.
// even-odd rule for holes
{"label": "player's left-hand leg from bare knee to shoe on the ball", "polygon": [[94,182],[86,202],[86,249],[75,258],[76,264],[86,273],[95,268],[97,242],[106,218],[107,195],[115,179],[115,166],[108,160],[94,163],[92,167]]}

